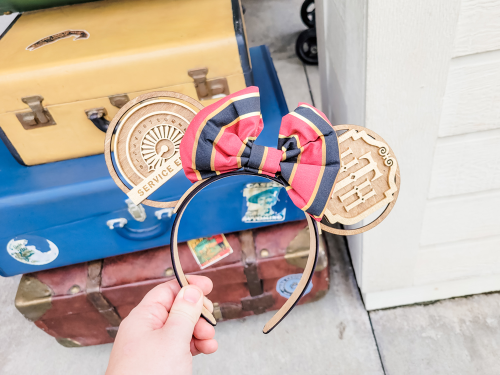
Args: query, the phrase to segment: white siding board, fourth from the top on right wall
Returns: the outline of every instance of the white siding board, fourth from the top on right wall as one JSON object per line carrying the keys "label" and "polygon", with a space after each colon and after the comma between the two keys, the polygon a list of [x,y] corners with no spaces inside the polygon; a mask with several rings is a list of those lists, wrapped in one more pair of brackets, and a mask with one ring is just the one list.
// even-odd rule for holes
{"label": "white siding board, fourth from the top on right wall", "polygon": [[500,234],[500,190],[430,200],[423,217],[421,245]]}

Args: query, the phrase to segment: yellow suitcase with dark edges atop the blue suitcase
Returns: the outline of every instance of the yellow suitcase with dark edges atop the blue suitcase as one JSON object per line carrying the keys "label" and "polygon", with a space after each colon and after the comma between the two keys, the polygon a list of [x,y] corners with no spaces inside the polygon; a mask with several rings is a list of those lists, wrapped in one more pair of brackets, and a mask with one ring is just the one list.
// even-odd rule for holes
{"label": "yellow suitcase with dark edges atop the blue suitcase", "polygon": [[22,164],[102,153],[151,90],[210,104],[252,84],[239,0],[104,0],[22,13],[0,39],[0,137]]}

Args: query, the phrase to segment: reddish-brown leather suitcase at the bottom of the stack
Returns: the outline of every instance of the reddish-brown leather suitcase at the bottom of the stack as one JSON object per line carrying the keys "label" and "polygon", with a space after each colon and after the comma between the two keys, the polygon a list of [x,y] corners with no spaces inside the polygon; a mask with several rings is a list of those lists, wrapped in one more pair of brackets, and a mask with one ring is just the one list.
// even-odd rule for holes
{"label": "reddish-brown leather suitcase at the bottom of the stack", "polygon": [[[208,298],[216,319],[278,309],[293,291],[307,260],[306,221],[225,236],[233,252],[204,269],[186,243],[179,245],[184,272],[213,281]],[[25,274],[15,306],[64,346],[112,342],[121,319],[152,287],[174,277],[169,246],[156,247]],[[299,303],[317,300],[328,290],[328,256],[322,238],[311,283]]]}

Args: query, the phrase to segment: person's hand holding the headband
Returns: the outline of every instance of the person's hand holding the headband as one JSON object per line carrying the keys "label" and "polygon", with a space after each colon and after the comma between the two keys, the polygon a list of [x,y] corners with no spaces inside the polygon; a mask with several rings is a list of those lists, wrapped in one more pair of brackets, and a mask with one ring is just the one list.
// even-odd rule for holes
{"label": "person's hand holding the headband", "polygon": [[217,350],[215,329],[200,317],[204,294],[212,290],[208,277],[187,276],[180,288],[170,280],[151,289],[123,319],[114,340],[106,375],[192,373],[192,356]]}

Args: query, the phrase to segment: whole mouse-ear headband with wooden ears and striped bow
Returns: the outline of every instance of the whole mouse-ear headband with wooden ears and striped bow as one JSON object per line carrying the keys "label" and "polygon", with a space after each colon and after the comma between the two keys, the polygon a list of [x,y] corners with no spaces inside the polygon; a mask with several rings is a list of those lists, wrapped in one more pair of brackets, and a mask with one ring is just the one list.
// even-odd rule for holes
{"label": "whole mouse-ear headband with wooden ears and striped bow", "polygon": [[[163,120],[158,113],[159,117],[165,115]],[[169,114],[176,115],[177,121]],[[150,120],[151,116],[157,123]],[[132,189],[118,177],[110,156],[111,137],[118,124],[115,162]],[[207,107],[182,94],[158,91],[140,95],[120,109],[107,130],[104,153],[111,176],[135,204],[175,206],[170,249],[181,286],[187,285],[187,279],[179,261],[178,225],[186,206],[200,190],[233,175],[265,175],[285,186],[293,203],[305,212],[309,256],[295,290],[265,324],[263,332],[267,333],[295,306],[312,277],[320,232],[317,223],[337,234],[356,234],[377,225],[395,203],[399,171],[390,148],[376,133],[356,125],[332,126],[324,113],[306,103],[299,103],[282,118],[277,148],[254,144],[262,128],[255,86]],[[337,131],[343,132],[337,136]],[[134,163],[131,156],[140,157]],[[178,201],[145,199],[180,168],[194,184]],[[161,176],[159,171],[166,173]],[[330,225],[355,224],[382,208],[378,218],[356,229]],[[215,318],[205,307],[202,316],[215,325]]]}

